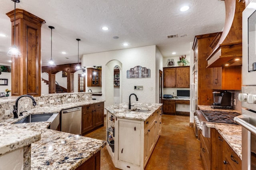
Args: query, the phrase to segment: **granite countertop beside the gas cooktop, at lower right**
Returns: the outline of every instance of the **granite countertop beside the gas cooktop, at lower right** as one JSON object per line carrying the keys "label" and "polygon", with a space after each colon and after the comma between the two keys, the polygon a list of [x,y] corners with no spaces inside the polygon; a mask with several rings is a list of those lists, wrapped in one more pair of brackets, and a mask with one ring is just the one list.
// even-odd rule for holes
{"label": "granite countertop beside the gas cooktop, at lower right", "polygon": [[242,127],[240,125],[206,123],[206,126],[217,129],[223,139],[242,160]]}

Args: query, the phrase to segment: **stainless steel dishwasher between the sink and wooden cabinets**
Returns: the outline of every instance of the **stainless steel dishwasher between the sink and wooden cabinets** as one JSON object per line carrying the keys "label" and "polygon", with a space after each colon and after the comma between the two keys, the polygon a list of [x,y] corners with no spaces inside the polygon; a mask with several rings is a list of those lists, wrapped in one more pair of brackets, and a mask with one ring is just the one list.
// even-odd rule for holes
{"label": "stainless steel dishwasher between the sink and wooden cabinets", "polygon": [[61,131],[81,135],[82,107],[61,111]]}

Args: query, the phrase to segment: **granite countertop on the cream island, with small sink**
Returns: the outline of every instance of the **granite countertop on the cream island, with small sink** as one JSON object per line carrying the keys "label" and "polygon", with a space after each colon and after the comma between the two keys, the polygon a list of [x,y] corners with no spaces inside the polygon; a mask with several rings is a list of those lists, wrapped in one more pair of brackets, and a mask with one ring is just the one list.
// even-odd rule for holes
{"label": "granite countertop on the cream island, with small sink", "polygon": [[[145,121],[158,109],[162,104],[158,103],[133,103],[131,109],[128,109],[128,103],[121,103],[105,107],[115,117]],[[148,110],[148,112],[139,112],[134,110]]]}

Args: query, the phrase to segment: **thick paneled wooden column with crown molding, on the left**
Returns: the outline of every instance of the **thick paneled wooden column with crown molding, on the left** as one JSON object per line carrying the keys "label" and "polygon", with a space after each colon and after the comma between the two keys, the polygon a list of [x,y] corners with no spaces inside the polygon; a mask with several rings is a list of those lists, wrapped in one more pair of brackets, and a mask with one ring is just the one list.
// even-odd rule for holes
{"label": "thick paneled wooden column with crown molding, on the left", "polygon": [[22,53],[22,58],[12,57],[12,96],[29,94],[41,96],[41,27],[44,20],[21,9],[6,14],[12,22],[12,45]]}

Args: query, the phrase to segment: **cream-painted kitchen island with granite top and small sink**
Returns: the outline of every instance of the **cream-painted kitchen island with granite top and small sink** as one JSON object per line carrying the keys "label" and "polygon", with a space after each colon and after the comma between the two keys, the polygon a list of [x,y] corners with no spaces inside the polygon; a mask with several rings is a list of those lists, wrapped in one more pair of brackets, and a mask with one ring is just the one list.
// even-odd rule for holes
{"label": "cream-painted kitchen island with granite top and small sink", "polygon": [[144,170],[161,135],[162,104],[132,105],[130,110],[126,103],[105,107],[106,148],[116,168]]}

